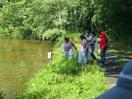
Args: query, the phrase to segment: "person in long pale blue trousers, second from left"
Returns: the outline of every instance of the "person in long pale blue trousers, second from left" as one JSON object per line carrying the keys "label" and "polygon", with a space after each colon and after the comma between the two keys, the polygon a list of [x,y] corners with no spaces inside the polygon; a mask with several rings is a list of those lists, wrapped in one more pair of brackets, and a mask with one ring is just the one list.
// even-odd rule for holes
{"label": "person in long pale blue trousers, second from left", "polygon": [[79,54],[79,63],[87,64],[87,55],[88,55],[88,42],[85,36],[80,36],[81,46]]}

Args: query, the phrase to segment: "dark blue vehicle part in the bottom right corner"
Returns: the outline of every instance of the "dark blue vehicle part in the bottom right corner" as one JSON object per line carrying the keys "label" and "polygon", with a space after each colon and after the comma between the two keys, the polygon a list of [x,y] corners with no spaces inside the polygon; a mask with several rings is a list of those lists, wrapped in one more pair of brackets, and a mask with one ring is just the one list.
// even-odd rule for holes
{"label": "dark blue vehicle part in the bottom right corner", "polygon": [[132,99],[132,61],[119,74],[116,86],[96,99]]}

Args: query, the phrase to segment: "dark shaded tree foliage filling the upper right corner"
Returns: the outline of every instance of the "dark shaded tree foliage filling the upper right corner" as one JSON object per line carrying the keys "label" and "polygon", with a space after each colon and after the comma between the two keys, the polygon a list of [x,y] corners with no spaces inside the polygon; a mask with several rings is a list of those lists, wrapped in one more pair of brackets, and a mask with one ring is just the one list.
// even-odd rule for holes
{"label": "dark shaded tree foliage filling the upper right corner", "polygon": [[110,30],[114,38],[128,37],[132,29],[131,0],[94,0],[95,15],[93,22],[102,30]]}

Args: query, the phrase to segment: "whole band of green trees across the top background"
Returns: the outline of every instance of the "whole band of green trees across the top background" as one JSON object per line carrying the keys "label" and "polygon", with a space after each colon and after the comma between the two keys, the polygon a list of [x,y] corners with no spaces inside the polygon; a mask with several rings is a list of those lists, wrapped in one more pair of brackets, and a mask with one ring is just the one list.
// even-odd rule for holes
{"label": "whole band of green trees across the top background", "polygon": [[56,39],[71,33],[106,31],[130,37],[132,0],[0,0],[0,36]]}

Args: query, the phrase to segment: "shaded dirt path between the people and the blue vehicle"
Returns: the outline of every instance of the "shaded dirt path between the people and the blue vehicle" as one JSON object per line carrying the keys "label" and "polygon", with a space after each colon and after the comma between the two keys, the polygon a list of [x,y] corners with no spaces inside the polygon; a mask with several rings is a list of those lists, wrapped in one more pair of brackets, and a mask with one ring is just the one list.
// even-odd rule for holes
{"label": "shaded dirt path between the people and the blue vehicle", "polygon": [[104,71],[108,88],[111,88],[116,84],[120,71],[130,60],[132,60],[132,52],[115,48],[110,48],[107,51]]}

